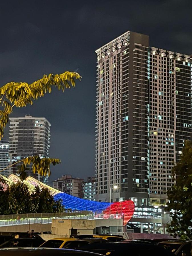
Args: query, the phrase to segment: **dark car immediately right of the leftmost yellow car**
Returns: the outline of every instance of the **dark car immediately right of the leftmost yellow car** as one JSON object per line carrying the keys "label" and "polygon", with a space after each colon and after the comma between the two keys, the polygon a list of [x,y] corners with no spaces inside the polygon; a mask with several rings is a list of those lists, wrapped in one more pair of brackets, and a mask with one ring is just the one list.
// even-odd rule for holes
{"label": "dark car immediately right of the leftmost yellow car", "polygon": [[[105,239],[101,239],[101,238],[85,238],[85,239],[78,239],[75,241],[70,241],[66,246],[64,246],[63,248],[65,249],[78,249],[81,248],[84,245],[87,244],[92,244],[92,243],[109,243],[109,241],[105,240]],[[100,245],[99,245],[100,246]]]}

